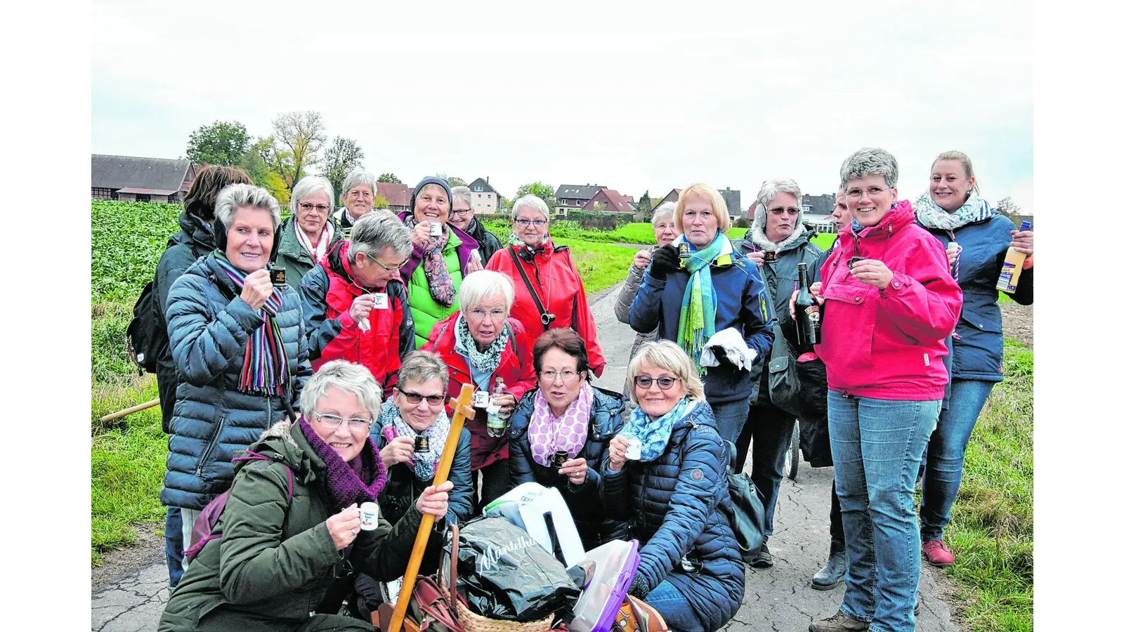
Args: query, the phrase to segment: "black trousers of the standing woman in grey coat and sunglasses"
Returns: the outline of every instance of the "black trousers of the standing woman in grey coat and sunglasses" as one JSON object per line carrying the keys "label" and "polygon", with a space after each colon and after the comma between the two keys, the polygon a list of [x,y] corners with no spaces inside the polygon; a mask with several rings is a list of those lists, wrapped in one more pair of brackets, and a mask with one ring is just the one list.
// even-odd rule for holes
{"label": "black trousers of the standing woman in grey coat and sunglasses", "polygon": [[792,441],[796,417],[769,404],[750,408],[749,419],[737,437],[736,471],[745,467],[750,442],[753,443],[753,471],[750,478],[761,491],[765,506],[765,533],[772,535],[772,516],[780,495],[780,481],[785,478],[785,455]]}

